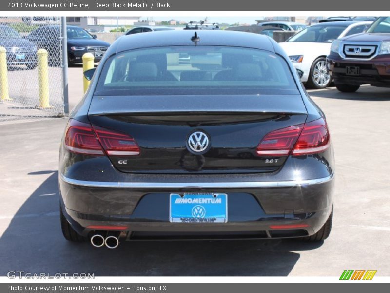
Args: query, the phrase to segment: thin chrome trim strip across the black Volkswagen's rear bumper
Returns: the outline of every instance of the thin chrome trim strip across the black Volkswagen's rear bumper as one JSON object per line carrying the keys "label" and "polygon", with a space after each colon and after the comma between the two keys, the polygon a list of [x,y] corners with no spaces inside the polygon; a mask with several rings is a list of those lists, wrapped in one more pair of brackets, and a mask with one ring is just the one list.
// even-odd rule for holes
{"label": "thin chrome trim strip across the black Volkswagen's rear bumper", "polygon": [[321,184],[331,181],[330,176],[318,179],[291,180],[291,181],[246,181],[246,182],[104,182],[84,181],[65,177],[59,173],[59,177],[66,183],[86,187],[106,188],[263,188],[263,187],[294,187],[312,184]]}

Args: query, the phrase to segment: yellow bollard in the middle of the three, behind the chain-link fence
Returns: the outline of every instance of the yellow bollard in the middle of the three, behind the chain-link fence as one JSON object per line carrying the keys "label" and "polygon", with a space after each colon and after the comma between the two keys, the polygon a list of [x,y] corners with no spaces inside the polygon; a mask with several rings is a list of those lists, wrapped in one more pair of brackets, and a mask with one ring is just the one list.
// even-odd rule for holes
{"label": "yellow bollard in the middle of the three, behind the chain-link fence", "polygon": [[39,49],[38,55],[38,89],[39,108],[50,108],[49,105],[49,65],[47,64],[47,51]]}

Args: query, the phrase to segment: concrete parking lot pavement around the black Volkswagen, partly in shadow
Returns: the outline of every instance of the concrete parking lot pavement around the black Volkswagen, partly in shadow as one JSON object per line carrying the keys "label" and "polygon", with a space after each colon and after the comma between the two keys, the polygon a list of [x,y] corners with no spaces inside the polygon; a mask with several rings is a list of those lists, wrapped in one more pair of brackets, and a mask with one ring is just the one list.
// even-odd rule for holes
{"label": "concrete parking lot pavement around the black Volkswagen, partly in shadow", "polygon": [[[81,68],[69,70],[70,107],[82,96]],[[59,226],[57,160],[66,121],[0,126],[0,275],[389,276],[390,89],[309,91],[328,120],[336,158],[331,236],[295,240],[121,241],[115,250],[67,242]]]}

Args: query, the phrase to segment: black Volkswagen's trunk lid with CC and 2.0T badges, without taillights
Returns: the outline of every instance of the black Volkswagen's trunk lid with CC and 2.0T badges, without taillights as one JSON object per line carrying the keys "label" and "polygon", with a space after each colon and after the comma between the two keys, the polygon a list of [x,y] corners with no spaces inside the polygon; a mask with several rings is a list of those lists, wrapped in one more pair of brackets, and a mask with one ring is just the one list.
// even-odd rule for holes
{"label": "black Volkswagen's trunk lid with CC and 2.0T badges, without taillights", "polygon": [[[88,116],[137,142],[138,156],[109,156],[122,172],[221,174],[276,171],[287,157],[261,157],[256,147],[267,133],[304,123],[307,111],[300,95],[95,96]],[[196,131],[209,138],[204,153],[189,148]]]}

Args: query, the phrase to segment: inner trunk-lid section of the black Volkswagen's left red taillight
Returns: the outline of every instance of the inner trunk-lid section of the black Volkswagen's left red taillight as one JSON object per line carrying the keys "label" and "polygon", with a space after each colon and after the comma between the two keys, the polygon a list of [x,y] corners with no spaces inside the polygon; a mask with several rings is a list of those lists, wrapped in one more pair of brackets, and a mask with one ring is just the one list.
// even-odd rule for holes
{"label": "inner trunk-lid section of the black Volkswagen's left red taillight", "polygon": [[94,126],[98,140],[110,156],[137,156],[139,146],[131,136]]}

